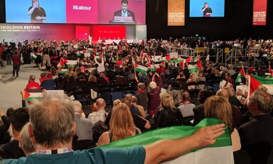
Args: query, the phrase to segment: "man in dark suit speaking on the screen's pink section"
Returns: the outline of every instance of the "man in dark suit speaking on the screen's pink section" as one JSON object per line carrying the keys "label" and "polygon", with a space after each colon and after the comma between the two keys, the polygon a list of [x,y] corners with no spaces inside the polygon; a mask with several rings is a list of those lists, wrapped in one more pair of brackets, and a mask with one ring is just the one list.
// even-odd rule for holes
{"label": "man in dark suit speaking on the screen's pink section", "polygon": [[[120,16],[124,18],[121,19]],[[128,10],[127,0],[122,0],[122,9],[114,12],[114,21],[136,21],[134,12]]]}

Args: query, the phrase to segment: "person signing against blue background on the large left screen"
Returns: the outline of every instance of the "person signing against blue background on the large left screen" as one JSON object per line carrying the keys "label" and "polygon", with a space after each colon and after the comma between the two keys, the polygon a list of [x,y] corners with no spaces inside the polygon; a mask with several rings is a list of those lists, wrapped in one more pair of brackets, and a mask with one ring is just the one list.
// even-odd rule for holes
{"label": "person signing against blue background on the large left screen", "polygon": [[31,23],[43,23],[46,19],[45,10],[40,6],[38,0],[32,0],[32,6],[28,8],[28,16],[31,15]]}

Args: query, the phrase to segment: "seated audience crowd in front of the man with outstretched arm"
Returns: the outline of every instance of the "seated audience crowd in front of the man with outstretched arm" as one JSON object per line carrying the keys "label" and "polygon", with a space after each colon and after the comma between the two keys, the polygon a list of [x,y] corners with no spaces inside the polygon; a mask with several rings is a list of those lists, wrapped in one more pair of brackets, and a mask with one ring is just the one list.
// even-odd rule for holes
{"label": "seated audience crowd in front of the man with outstretched arm", "polygon": [[[98,52],[102,54],[103,49],[100,48]],[[95,102],[92,103],[91,113],[83,113],[82,103],[73,101],[76,123],[73,149],[105,145],[156,128],[197,125],[203,118],[214,117],[223,121],[230,130],[236,163],[267,163],[272,157],[273,133],[269,130],[273,126],[272,96],[263,86],[249,98],[247,88],[236,90],[238,83],[235,83],[235,78],[240,67],[234,70],[232,65],[225,68],[219,63],[205,61],[202,71],[190,73],[187,63],[184,69],[180,64],[176,65],[175,60],[156,66],[141,51],[137,53],[129,48],[122,52],[106,51],[99,59],[95,53],[90,57],[77,56],[76,51],[66,55],[55,53],[58,56],[56,61],[65,58],[78,59],[79,62],[77,66],[66,63],[60,66],[52,59],[45,60],[42,64],[47,66],[48,71],[41,73],[40,83],[36,82],[35,76],[29,77],[26,89],[41,89],[44,81],[54,78],[56,89],[64,90],[76,100],[77,93],[81,92]],[[116,62],[117,58],[121,59],[120,64]],[[203,61],[203,58],[205,56],[201,56],[200,60]],[[137,72],[135,63],[146,66],[146,73]],[[154,65],[154,72],[149,64]],[[65,68],[67,73],[62,73]],[[252,68],[246,71],[257,73]],[[215,89],[215,86],[218,88]],[[125,91],[128,90],[134,92],[127,94]],[[107,103],[100,97],[100,93],[105,91],[124,93],[123,98],[112,101],[113,108],[109,112],[105,111]],[[23,95],[22,91],[25,100]],[[199,102],[193,101],[196,98]],[[23,135],[23,131],[27,130],[23,125],[29,121],[28,108],[8,111],[7,117],[0,113],[3,158],[20,158],[35,152],[35,148],[30,149],[30,138]],[[100,134],[94,130],[99,123],[107,127]],[[28,141],[23,141],[23,138]],[[18,147],[19,143],[22,149]]]}

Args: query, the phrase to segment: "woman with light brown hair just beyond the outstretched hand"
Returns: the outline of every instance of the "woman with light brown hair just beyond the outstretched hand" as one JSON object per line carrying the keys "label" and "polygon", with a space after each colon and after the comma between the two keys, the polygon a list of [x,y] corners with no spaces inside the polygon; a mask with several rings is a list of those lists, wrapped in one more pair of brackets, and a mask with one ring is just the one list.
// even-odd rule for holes
{"label": "woman with light brown hair just beyond the outstretched hand", "polygon": [[240,135],[234,128],[232,121],[232,108],[230,103],[223,96],[211,96],[204,103],[205,117],[218,118],[225,125],[228,125],[232,141],[233,152],[241,149]]}

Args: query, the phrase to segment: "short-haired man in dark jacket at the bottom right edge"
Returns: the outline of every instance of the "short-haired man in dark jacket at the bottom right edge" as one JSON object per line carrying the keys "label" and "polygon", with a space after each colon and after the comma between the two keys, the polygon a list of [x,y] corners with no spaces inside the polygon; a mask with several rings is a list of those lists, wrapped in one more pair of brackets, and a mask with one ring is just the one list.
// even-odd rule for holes
{"label": "short-haired man in dark jacket at the bottom right edge", "polygon": [[[249,122],[238,128],[242,149],[250,154],[251,163],[271,163],[273,159],[273,98],[269,93],[255,91],[248,100],[252,114]],[[271,152],[271,153],[270,153]]]}

